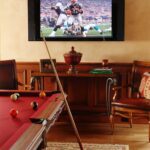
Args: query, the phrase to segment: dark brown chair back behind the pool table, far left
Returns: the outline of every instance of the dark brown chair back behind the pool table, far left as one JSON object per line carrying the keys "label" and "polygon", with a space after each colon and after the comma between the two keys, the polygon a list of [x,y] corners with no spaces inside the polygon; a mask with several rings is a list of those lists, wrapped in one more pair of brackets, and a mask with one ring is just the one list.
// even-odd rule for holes
{"label": "dark brown chair back behind the pool table, far left", "polygon": [[0,61],[0,89],[18,89],[16,61]]}

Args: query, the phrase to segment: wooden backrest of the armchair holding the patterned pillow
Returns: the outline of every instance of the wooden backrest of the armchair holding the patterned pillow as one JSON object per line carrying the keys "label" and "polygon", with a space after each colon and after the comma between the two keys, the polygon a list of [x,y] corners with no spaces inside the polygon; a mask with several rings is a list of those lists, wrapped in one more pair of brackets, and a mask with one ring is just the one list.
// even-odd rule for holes
{"label": "wooden backrest of the armchair holding the patterned pillow", "polygon": [[133,61],[132,73],[131,73],[131,94],[138,92],[142,75],[144,72],[150,72],[150,62],[146,61]]}

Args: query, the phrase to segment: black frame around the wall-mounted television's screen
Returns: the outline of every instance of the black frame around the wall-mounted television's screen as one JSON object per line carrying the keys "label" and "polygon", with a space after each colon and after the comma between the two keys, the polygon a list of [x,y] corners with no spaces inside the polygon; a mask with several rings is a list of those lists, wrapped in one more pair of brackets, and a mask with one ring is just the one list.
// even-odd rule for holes
{"label": "black frame around the wall-mounted television's screen", "polygon": [[[112,0],[112,37],[53,37],[47,41],[123,41],[125,0]],[[40,0],[28,0],[28,40],[42,41],[40,37]]]}

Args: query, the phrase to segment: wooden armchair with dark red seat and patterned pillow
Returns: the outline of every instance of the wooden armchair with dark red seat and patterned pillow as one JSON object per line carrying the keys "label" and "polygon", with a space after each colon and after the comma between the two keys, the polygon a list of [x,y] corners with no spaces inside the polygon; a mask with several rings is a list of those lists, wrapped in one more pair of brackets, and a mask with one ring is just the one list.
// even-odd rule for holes
{"label": "wooden armchair with dark red seat and patterned pillow", "polygon": [[[146,73],[145,73],[146,72]],[[144,73],[144,75],[143,75]],[[132,127],[134,117],[144,117],[149,123],[150,142],[150,62],[134,61],[127,98],[116,99],[118,87],[114,87],[115,96],[111,102],[110,122],[114,131],[114,117],[119,115],[129,120]]]}

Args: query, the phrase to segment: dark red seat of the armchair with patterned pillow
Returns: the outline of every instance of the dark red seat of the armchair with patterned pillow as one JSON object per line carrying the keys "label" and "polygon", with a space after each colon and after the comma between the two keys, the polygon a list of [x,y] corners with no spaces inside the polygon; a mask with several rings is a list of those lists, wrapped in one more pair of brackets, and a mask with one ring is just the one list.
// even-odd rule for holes
{"label": "dark red seat of the armchair with patterned pillow", "polygon": [[126,107],[150,111],[150,100],[144,98],[128,98],[112,102],[112,106]]}

